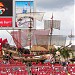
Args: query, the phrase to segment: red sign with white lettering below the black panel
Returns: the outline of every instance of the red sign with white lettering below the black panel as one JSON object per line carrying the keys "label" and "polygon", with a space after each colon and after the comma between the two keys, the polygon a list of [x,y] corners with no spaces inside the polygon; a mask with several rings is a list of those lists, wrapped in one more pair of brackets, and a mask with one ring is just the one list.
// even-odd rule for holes
{"label": "red sign with white lettering below the black panel", "polygon": [[12,18],[0,18],[0,27],[12,27]]}

